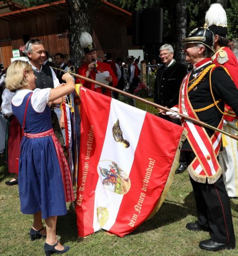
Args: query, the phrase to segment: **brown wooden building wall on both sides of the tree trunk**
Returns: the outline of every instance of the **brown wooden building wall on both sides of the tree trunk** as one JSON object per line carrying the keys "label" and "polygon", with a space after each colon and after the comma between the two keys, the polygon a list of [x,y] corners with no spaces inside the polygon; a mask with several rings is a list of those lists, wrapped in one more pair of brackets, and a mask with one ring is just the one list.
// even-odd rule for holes
{"label": "brown wooden building wall on both sides of the tree trunk", "polygon": [[[128,49],[135,49],[131,36],[126,34],[126,28],[131,26],[131,17],[103,8],[97,9],[93,17],[92,36],[98,57],[104,59],[104,53],[110,52],[114,60],[117,57],[125,59]],[[21,19],[0,20],[3,25],[0,27],[0,61],[4,67],[11,63],[12,50],[24,45],[24,38],[41,39],[50,56],[60,52],[70,59],[67,10],[38,15],[26,12]]]}

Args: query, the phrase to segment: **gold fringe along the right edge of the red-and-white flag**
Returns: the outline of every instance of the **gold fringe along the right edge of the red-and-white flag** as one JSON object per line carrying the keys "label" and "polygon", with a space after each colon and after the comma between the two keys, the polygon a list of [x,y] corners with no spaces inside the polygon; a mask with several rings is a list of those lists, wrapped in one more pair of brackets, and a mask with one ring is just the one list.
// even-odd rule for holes
{"label": "gold fringe along the right edge of the red-and-white flag", "polygon": [[186,136],[188,134],[188,131],[186,131],[186,129],[183,130],[183,133],[181,135],[181,138],[180,138],[180,142],[179,142],[179,146],[177,147],[177,150],[176,150],[176,154],[175,154],[175,157],[174,157],[174,161],[173,161],[173,164],[172,164],[172,167],[171,167],[171,171],[169,172],[169,175],[168,175],[168,179],[166,181],[166,185],[165,185],[165,188],[164,188],[164,191],[162,193],[162,195],[160,196],[158,202],[157,202],[157,205],[155,206],[155,209],[154,211],[152,211],[149,215],[149,217],[147,218],[147,220],[151,219],[152,217],[154,217],[154,215],[156,214],[156,212],[158,212],[160,206],[163,204],[163,202],[165,201],[165,198],[166,198],[166,195],[168,193],[168,190],[170,188],[170,186],[172,185],[173,183],[173,180],[174,180],[174,175],[175,175],[175,171],[177,169],[177,166],[179,165],[179,161],[180,161],[180,150],[182,148],[182,145],[183,145],[183,142],[184,140],[186,139]]}

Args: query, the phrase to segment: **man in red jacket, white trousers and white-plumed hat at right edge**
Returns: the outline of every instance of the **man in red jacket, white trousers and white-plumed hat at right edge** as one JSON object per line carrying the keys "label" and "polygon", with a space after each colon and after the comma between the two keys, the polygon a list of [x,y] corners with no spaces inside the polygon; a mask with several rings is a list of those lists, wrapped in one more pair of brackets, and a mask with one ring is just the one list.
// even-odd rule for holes
{"label": "man in red jacket, white trousers and white-plumed hat at right edge", "polygon": [[[219,15],[217,15],[219,13]],[[224,23],[221,23],[221,20]],[[234,53],[227,47],[226,36],[227,22],[226,12],[220,4],[212,4],[206,14],[206,25],[214,33],[215,54],[211,58],[217,66],[222,65],[231,75],[233,82],[238,88],[238,62]],[[237,133],[237,116],[233,109],[225,105],[223,130],[229,133]],[[233,129],[232,127],[235,127]],[[220,153],[219,161],[223,169],[226,191],[230,197],[238,197],[238,150],[237,141],[223,135],[224,148]]]}

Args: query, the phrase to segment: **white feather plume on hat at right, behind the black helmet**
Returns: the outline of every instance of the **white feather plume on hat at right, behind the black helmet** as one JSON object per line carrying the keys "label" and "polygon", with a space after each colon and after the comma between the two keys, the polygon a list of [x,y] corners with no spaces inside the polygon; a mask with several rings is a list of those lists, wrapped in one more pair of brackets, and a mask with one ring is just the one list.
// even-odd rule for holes
{"label": "white feather plume on hat at right, behind the black helmet", "polygon": [[208,27],[211,25],[227,27],[226,12],[221,4],[211,4],[206,13],[205,22]]}

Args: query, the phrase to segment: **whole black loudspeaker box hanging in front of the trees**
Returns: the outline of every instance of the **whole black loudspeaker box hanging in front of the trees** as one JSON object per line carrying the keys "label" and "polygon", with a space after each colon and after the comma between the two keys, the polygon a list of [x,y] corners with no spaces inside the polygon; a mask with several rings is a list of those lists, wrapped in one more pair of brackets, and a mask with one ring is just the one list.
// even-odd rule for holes
{"label": "whole black loudspeaker box hanging in front of the trees", "polygon": [[163,9],[143,9],[132,13],[132,43],[153,44],[163,41]]}

